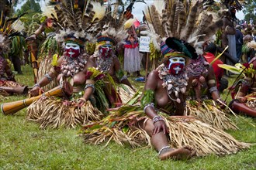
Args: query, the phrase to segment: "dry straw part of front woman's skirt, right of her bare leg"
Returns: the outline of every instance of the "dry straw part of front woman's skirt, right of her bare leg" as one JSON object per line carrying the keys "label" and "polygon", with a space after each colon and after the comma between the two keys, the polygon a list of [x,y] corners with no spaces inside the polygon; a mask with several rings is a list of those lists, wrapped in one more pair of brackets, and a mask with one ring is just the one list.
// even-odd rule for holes
{"label": "dry straw part of front woman's skirt, right of her bare leg", "polygon": [[250,144],[237,141],[225,131],[195,119],[195,117],[165,117],[170,132],[170,145],[180,148],[189,145],[197,156],[230,155]]}

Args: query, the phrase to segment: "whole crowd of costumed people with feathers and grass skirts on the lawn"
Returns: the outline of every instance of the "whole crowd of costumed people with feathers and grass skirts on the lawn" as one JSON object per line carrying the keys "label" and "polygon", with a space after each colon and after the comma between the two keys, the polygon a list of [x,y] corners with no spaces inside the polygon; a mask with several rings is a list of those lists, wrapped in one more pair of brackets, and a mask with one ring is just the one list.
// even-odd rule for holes
{"label": "whole crowd of costumed people with feathers and grass skirts on the lawn", "polygon": [[[9,46],[13,35],[0,32],[0,92],[29,93],[30,97],[36,97],[45,90],[52,93],[61,89],[54,96],[46,93],[33,100],[27,109],[27,119],[39,123],[40,128],[81,125],[86,129],[83,133],[85,141],[93,143],[92,136],[107,135],[106,128],[102,129],[111,126],[111,135],[125,138],[120,141],[128,140],[130,144],[148,141],[161,160],[212,153],[223,155],[248,148],[250,145],[237,141],[223,130],[237,128],[230,119],[230,110],[256,117],[255,27],[235,26],[234,8],[224,11],[213,22],[213,16],[204,12],[200,2],[192,5],[187,24],[175,24],[167,9],[176,5],[184,8],[182,2],[176,3],[166,2],[163,7],[166,13],[159,12],[153,18],[152,12],[157,9],[150,5],[141,27],[133,25],[134,20],[129,19],[132,15],[127,17],[130,10],[112,14],[98,2],[88,3],[86,11],[83,11],[85,4],[78,1],[74,4],[55,3],[56,15],[48,16],[40,28],[26,38],[26,42],[35,45],[29,48],[31,58],[47,55],[40,58],[41,62],[37,58],[32,61],[36,62],[33,67],[36,83],[29,92],[19,83],[16,83],[19,89],[4,87],[8,81],[16,82],[5,59],[8,50],[13,48]],[[194,26],[197,10],[201,19],[212,18],[209,26],[203,20]],[[185,12],[175,15],[185,15]],[[6,19],[6,26],[10,26],[11,21]],[[43,41],[54,42],[58,48],[50,46],[46,54],[42,46],[31,42],[50,26],[48,22],[53,22],[54,29]],[[219,44],[212,38],[217,30],[221,32],[217,37]],[[132,73],[137,73],[136,76],[142,73],[140,66],[144,55],[139,51],[139,36],[149,36],[150,53],[159,54],[157,60],[150,61],[157,68],[145,75],[147,80],[141,91],[137,91],[128,79]],[[220,53],[223,55],[219,58]],[[9,57],[13,58],[12,54],[9,53]],[[244,70],[240,71],[244,76],[240,76],[240,83],[232,87],[234,100],[227,108],[227,101],[221,99],[220,93],[229,86],[228,76],[234,75],[220,65],[234,66],[237,63],[245,63]],[[19,68],[17,70],[21,73]],[[38,70],[41,74],[35,72]],[[55,88],[43,89],[50,83]],[[16,104],[9,105],[16,107]],[[7,113],[11,107],[5,108],[2,104],[2,112]],[[95,125],[100,126],[95,128]],[[124,127],[129,130],[123,131]],[[134,131],[138,132],[134,134]],[[198,138],[189,138],[193,133]],[[179,134],[182,137],[175,141],[174,136]],[[97,141],[97,138],[93,139]]]}

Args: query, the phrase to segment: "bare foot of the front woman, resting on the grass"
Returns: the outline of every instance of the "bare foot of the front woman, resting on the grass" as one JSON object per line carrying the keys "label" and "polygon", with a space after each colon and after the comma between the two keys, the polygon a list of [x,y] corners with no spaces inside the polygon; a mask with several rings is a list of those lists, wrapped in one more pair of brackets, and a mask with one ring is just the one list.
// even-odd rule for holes
{"label": "bare foot of the front woman, resting on the grass", "polygon": [[178,149],[166,148],[161,151],[159,158],[161,161],[166,160],[168,158],[181,160],[181,159],[189,159],[195,156],[196,151],[192,147],[184,146]]}

